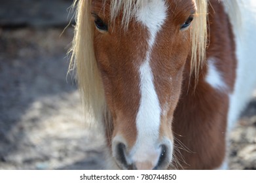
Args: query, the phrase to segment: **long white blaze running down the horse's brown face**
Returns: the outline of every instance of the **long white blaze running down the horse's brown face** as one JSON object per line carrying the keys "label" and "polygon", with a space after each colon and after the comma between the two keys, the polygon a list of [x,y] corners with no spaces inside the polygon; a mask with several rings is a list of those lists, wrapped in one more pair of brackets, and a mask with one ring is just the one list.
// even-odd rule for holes
{"label": "long white blaze running down the horse's brown face", "polygon": [[137,140],[131,156],[133,162],[149,161],[152,165],[156,165],[161,151],[157,144],[161,107],[154,86],[150,59],[156,35],[166,19],[166,11],[167,7],[163,0],[150,0],[145,7],[138,10],[136,16],[137,21],[145,25],[150,34],[149,49],[139,68],[141,101],[136,117]]}

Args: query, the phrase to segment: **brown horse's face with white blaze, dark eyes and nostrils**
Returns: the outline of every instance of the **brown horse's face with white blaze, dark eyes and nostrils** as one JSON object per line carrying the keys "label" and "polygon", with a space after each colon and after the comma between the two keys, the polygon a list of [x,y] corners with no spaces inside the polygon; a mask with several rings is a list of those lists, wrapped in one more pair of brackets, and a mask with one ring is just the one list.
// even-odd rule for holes
{"label": "brown horse's face with white blaze, dark eyes and nostrils", "polygon": [[110,1],[92,1],[94,51],[113,118],[109,143],[121,169],[166,169],[172,161],[172,118],[191,50],[194,1],[145,1],[128,28]]}

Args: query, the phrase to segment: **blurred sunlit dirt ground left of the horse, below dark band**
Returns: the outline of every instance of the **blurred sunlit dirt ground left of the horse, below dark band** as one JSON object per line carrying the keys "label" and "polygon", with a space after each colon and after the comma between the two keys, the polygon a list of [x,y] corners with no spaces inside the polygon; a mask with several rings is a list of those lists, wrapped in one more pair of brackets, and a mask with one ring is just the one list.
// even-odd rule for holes
{"label": "blurred sunlit dirt ground left of the horse, below dark band", "polygon": [[100,169],[101,133],[67,75],[73,30],[0,31],[0,169]]}

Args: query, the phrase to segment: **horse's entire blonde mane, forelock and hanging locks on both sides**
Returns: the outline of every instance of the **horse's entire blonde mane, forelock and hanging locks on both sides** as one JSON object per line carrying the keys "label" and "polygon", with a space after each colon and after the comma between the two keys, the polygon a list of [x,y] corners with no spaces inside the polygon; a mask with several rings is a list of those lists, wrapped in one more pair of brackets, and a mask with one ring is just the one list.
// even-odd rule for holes
{"label": "horse's entire blonde mane, forelock and hanging locks on both sides", "polygon": [[[103,0],[105,1],[105,0]],[[111,20],[122,10],[122,24],[128,27],[136,10],[150,0],[112,0]],[[75,0],[77,5],[75,37],[70,49],[69,71],[76,70],[77,82],[86,111],[86,120],[102,121],[106,105],[103,84],[94,55],[94,24],[91,21],[92,0]],[[191,27],[191,73],[196,78],[206,59],[208,0],[196,0],[196,14]],[[194,72],[192,72],[194,71]],[[108,116],[108,115],[107,115]]]}

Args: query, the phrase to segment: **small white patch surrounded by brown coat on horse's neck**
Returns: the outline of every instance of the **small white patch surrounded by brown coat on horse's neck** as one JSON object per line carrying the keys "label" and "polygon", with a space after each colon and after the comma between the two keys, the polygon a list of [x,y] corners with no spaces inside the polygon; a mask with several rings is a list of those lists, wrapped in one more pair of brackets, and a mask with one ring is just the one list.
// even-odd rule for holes
{"label": "small white patch surrounded by brown coat on horse's neck", "polygon": [[206,75],[206,82],[210,84],[216,90],[225,92],[227,90],[227,85],[225,84],[221,73],[217,70],[214,65],[215,59],[208,59],[208,73]]}

